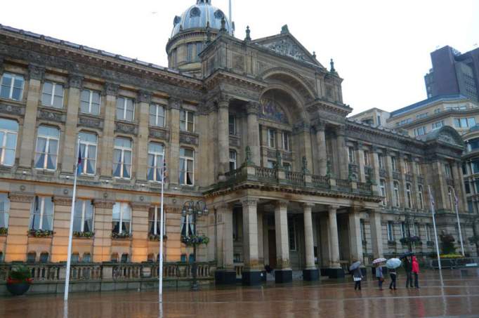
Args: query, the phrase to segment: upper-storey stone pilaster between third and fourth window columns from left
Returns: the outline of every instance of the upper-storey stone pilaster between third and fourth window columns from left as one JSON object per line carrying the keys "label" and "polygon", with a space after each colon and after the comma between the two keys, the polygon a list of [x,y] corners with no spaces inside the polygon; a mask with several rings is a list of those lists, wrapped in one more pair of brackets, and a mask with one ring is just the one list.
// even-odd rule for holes
{"label": "upper-storey stone pilaster between third and fourth window columns from left", "polygon": [[101,152],[98,158],[98,161],[100,161],[100,175],[103,178],[111,178],[113,172],[114,121],[117,113],[118,88],[117,84],[106,83],[103,92],[105,95],[105,119],[103,121]]}

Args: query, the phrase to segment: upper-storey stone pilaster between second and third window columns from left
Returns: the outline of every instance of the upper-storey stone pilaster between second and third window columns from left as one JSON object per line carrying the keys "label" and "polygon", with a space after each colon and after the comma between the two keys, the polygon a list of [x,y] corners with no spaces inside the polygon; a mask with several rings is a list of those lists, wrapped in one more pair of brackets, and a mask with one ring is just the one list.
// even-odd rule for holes
{"label": "upper-storey stone pilaster between second and third window columns from left", "polygon": [[63,140],[62,172],[73,173],[78,152],[77,122],[83,77],[70,75],[68,82],[67,121]]}

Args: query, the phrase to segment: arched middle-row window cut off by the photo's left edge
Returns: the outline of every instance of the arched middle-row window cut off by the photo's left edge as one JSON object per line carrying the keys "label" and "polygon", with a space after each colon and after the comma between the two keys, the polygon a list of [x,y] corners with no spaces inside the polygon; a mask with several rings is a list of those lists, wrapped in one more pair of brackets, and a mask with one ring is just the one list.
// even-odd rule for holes
{"label": "arched middle-row window cut off by the photo's left edge", "polygon": [[18,122],[0,118],[0,164],[13,166],[17,149]]}

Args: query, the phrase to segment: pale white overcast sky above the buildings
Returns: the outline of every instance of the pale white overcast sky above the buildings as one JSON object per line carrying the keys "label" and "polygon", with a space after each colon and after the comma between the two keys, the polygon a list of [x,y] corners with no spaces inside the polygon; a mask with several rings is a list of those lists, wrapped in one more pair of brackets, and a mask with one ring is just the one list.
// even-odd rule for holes
{"label": "pale white overcast sky above the buildings", "polygon": [[[196,0],[3,1],[0,24],[167,66],[173,18]],[[228,13],[228,0],[212,0]],[[426,98],[430,53],[479,44],[477,0],[232,0],[236,37],[291,34],[343,81],[353,113],[395,110]]]}

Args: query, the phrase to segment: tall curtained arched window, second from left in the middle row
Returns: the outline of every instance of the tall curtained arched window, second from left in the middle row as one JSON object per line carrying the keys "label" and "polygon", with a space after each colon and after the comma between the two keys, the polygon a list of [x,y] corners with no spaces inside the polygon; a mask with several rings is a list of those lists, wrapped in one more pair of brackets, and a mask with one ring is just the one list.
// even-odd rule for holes
{"label": "tall curtained arched window, second from left in the middle row", "polygon": [[39,126],[37,133],[37,148],[35,168],[56,170],[58,160],[58,143],[60,130],[52,126]]}

